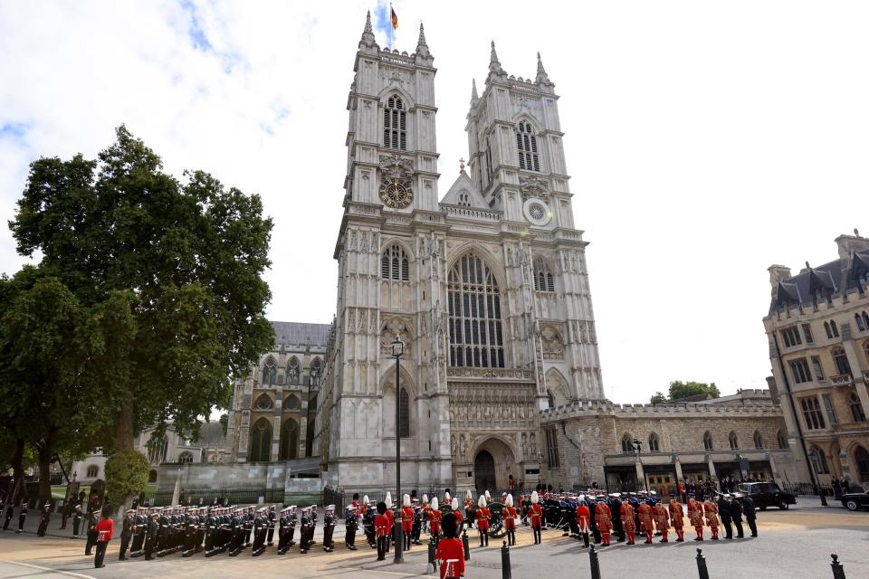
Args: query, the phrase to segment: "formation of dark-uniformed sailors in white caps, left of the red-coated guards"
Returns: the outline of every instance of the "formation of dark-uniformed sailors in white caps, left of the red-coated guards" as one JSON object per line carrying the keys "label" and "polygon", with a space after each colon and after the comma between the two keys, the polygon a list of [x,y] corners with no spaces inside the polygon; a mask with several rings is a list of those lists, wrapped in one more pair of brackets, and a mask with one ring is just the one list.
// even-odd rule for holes
{"label": "formation of dark-uniformed sailors in white caps, left of the red-coated guards", "polygon": [[[119,559],[130,556],[164,557],[180,552],[189,557],[205,551],[206,557],[229,553],[240,555],[251,547],[253,556],[263,555],[266,546],[274,545],[275,527],[278,534],[278,554],[285,554],[293,540],[297,522],[301,523],[300,552],[307,553],[314,543],[317,508],[310,506],[283,508],[280,513],[271,507],[153,507],[129,509],[123,521]],[[326,508],[324,517],[324,548],[331,550],[331,531],[335,526],[334,506]],[[130,545],[131,543],[131,545]]]}

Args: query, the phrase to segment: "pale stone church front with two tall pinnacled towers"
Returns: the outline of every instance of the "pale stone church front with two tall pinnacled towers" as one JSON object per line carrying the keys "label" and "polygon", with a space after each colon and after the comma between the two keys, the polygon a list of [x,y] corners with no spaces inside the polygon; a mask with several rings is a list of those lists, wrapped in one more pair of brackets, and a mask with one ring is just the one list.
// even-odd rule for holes
{"label": "pale stone church front with two tall pinnacled towers", "polygon": [[604,398],[555,85],[540,55],[533,81],[508,75],[492,43],[469,160],[441,196],[422,25],[414,53],[381,49],[369,14],[353,71],[323,477],[395,489],[400,441],[402,489],[534,484],[549,468],[540,411]]}

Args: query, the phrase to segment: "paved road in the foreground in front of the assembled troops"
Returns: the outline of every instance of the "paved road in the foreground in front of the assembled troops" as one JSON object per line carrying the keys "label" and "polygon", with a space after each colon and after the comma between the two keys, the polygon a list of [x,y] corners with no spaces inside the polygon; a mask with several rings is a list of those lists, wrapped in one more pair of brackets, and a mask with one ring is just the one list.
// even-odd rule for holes
{"label": "paved road in the foreground in front of the assembled troops", "polygon": [[[683,544],[645,546],[614,545],[600,549],[603,579],[665,574],[668,577],[697,577],[696,547],[702,546],[711,579],[826,579],[832,577],[830,553],[839,555],[848,579],[869,578],[869,512],[848,513],[842,508],[821,508],[814,501],[800,501],[788,511],[769,510],[759,513],[760,536],[733,541],[688,541]],[[339,529],[340,531],[340,529]],[[319,533],[318,533],[319,535]],[[521,528],[517,547],[511,548],[512,576],[589,577],[587,549],[564,538],[557,531],[545,532],[541,546],[531,545],[530,532]],[[469,536],[471,536],[469,534]],[[692,536],[688,533],[687,536]],[[273,548],[254,558],[250,551],[230,558],[226,555],[205,559],[196,555],[183,559],[179,554],[145,562],[117,560],[118,546],[110,546],[107,566],[94,569],[91,558],[82,555],[81,541],[58,537],[37,538],[30,534],[15,536],[0,532],[0,577],[78,576],[96,579],[123,577],[308,577],[349,578],[414,577],[426,572],[425,547],[416,546],[406,555],[406,563],[394,565],[391,558],[377,563],[374,551],[362,546],[356,552],[344,549],[343,533],[336,534],[339,547],[335,553],[323,553],[320,544],[307,555],[293,550],[275,555]],[[497,542],[481,549],[472,545],[468,562],[469,579],[501,579],[501,554]],[[24,565],[37,565],[36,568]],[[648,570],[645,573],[643,570]]]}

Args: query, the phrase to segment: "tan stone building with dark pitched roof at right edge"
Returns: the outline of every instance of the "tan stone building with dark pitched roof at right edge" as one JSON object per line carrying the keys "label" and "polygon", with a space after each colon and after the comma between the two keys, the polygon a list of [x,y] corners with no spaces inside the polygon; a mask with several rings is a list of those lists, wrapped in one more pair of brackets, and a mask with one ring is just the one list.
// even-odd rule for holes
{"label": "tan stone building with dark pitched roof at right edge", "polygon": [[763,318],[792,447],[822,485],[869,487],[869,239],[836,238],[838,259],[797,275],[769,267]]}

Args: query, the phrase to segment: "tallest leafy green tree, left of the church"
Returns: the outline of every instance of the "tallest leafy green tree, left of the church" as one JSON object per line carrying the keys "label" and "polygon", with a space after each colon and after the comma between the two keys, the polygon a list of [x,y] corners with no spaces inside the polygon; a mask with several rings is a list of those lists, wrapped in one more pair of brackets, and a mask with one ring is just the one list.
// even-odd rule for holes
{"label": "tallest leafy green tree, left of the church", "polygon": [[103,446],[129,450],[141,428],[169,420],[196,435],[199,417],[228,405],[232,377],[272,346],[272,220],[258,195],[202,171],[181,183],[127,128],[116,134],[97,160],[34,161],[10,228],[83,307],[105,308],[92,323],[123,337],[91,348],[87,367],[117,409]]}

